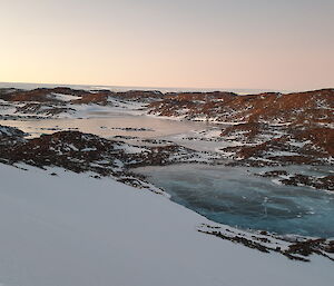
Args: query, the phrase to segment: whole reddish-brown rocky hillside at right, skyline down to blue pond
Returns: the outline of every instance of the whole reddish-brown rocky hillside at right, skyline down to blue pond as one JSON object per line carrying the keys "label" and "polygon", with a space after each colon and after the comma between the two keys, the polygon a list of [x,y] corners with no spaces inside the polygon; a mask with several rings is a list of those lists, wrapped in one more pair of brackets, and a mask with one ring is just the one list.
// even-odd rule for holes
{"label": "whole reddish-brown rocky hillside at right, skyline down to blue pond", "polygon": [[[334,89],[237,96],[229,92],[173,93],[149,112],[223,122],[223,154],[232,165],[334,164]],[[216,138],[219,141],[219,138]]]}

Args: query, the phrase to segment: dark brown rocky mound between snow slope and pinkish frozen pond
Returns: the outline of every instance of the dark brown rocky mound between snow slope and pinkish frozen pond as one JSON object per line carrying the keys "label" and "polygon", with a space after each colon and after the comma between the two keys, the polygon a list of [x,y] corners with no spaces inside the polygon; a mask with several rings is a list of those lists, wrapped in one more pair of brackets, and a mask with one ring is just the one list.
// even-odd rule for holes
{"label": "dark brown rocky mound between snow slope and pinkish frozen pond", "polygon": [[23,134],[18,129],[1,128],[12,134],[11,141],[6,135],[3,145],[0,145],[1,161],[10,165],[57,166],[76,172],[94,171],[101,176],[122,177],[129,176],[129,169],[134,167],[210,160],[207,154],[177,145],[139,147],[79,131],[59,131],[22,139]]}

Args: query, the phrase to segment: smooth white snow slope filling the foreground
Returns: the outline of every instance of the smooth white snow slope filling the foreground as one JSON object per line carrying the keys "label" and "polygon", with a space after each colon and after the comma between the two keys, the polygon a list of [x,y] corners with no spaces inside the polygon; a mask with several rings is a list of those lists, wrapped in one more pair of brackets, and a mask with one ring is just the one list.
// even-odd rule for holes
{"label": "smooth white snow slope filling the foreground", "polygon": [[0,164],[1,286],[333,285],[333,262],[293,262],[200,234],[209,221],[164,196],[23,167]]}

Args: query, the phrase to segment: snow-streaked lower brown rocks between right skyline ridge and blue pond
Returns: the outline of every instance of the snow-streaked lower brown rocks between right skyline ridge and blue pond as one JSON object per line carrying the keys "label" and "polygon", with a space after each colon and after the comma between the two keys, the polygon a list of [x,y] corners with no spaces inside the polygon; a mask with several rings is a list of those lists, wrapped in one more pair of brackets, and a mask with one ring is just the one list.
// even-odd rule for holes
{"label": "snow-streaked lower brown rocks between right skyline ridge and blue pond", "polygon": [[[272,135],[275,130],[276,137]],[[243,132],[239,141],[244,141],[245,145],[222,149],[237,159],[233,165],[261,167],[334,164],[334,129],[331,128],[279,127],[275,129],[266,125],[246,124],[226,128],[222,137],[238,132]],[[271,138],[271,135],[274,138]],[[263,136],[265,138],[262,138]]]}

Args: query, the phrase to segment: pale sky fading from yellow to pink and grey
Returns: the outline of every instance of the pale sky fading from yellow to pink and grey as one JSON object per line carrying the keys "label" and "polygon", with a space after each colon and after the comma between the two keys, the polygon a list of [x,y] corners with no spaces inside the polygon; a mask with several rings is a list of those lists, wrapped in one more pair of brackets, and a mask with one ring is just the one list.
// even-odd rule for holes
{"label": "pale sky fading from yellow to pink and grey", "polygon": [[0,0],[0,81],[334,87],[333,0]]}

